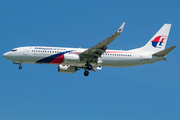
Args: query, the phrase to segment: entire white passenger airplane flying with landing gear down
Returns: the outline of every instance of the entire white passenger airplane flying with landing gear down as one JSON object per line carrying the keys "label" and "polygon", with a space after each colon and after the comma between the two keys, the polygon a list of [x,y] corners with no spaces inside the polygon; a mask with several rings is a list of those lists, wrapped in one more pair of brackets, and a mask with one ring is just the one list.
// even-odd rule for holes
{"label": "entire white passenger airplane flying with landing gear down", "polygon": [[160,30],[143,47],[123,51],[108,50],[107,46],[123,31],[125,22],[120,28],[95,46],[84,48],[28,46],[14,48],[3,54],[3,57],[19,65],[21,63],[54,64],[58,65],[58,72],[75,73],[84,69],[84,75],[89,71],[97,72],[102,67],[130,67],[166,61],[166,55],[175,46],[165,49],[171,24],[164,24]]}

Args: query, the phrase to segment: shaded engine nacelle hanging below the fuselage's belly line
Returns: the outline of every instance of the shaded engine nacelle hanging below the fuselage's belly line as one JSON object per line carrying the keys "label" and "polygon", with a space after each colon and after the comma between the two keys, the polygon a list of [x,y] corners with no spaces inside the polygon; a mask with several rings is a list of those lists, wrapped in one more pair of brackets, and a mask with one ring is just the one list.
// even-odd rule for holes
{"label": "shaded engine nacelle hanging below the fuselage's belly line", "polygon": [[58,72],[62,73],[75,73],[77,71],[76,67],[67,65],[58,65]]}

